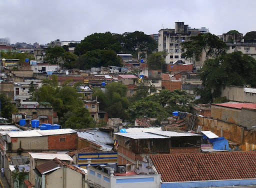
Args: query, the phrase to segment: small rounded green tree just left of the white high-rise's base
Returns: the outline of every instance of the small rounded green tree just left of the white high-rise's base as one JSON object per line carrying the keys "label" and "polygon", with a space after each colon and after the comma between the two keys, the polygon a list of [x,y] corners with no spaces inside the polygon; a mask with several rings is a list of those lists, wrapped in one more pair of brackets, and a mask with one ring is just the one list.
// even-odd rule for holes
{"label": "small rounded green tree just left of the white high-rise's base", "polygon": [[[166,55],[165,55],[166,56]],[[148,68],[150,69],[161,69],[165,70],[165,56],[163,57],[163,53],[155,52],[149,55],[147,60]]]}

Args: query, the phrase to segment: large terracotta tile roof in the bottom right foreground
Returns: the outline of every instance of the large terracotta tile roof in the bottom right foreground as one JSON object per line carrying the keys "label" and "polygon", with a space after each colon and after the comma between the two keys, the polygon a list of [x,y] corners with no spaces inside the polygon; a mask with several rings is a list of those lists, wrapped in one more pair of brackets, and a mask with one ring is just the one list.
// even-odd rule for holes
{"label": "large terracotta tile roof in the bottom right foreground", "polygon": [[256,152],[150,155],[163,182],[255,178]]}

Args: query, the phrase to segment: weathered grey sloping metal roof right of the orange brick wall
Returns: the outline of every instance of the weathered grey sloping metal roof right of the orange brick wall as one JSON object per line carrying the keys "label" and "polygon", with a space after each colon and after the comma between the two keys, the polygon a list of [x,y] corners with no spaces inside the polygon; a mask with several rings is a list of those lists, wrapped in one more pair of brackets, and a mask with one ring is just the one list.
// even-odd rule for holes
{"label": "weathered grey sloping metal roof right of the orange brick wall", "polygon": [[108,133],[100,130],[77,131],[77,136],[85,138],[90,141],[97,141],[100,143],[114,143],[114,141]]}

